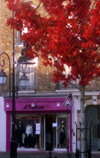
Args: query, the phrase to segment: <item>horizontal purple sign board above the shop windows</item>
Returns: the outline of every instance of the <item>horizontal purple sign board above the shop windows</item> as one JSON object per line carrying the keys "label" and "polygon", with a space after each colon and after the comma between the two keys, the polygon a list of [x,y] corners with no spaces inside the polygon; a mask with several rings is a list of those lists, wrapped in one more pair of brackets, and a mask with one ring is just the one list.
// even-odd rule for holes
{"label": "horizontal purple sign board above the shop windows", "polygon": [[[15,109],[16,112],[64,112],[66,106],[64,106],[66,98],[18,98],[16,99]],[[12,111],[12,100],[4,100],[4,110]],[[68,110],[71,110],[72,106],[68,106]]]}

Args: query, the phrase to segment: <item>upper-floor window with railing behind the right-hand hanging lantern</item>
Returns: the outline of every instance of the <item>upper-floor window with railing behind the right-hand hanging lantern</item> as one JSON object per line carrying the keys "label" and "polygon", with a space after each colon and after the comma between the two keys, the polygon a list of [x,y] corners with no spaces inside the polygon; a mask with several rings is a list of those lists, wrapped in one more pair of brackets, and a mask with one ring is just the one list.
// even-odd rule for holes
{"label": "upper-floor window with railing behind the right-hand hanging lantern", "polygon": [[[27,63],[28,64],[25,65],[18,63],[16,66],[16,81],[17,81],[16,86],[18,87],[18,91],[36,91],[37,88],[36,67],[38,66],[38,58],[35,58]],[[23,76],[23,74],[27,76],[28,79],[27,86],[21,86],[20,84],[20,78]]]}

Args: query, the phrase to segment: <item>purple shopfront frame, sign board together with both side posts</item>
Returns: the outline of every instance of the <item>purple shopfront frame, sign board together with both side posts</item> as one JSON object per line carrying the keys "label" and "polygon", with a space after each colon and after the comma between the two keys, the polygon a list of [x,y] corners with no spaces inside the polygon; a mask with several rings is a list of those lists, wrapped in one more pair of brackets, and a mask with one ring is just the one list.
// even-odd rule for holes
{"label": "purple shopfront frame, sign board together with both side posts", "polygon": [[[16,99],[16,113],[66,113],[70,114],[70,151],[72,151],[72,106],[66,108],[63,104],[66,98],[19,98]],[[57,106],[57,103],[60,106]],[[33,104],[33,106],[32,106]],[[12,112],[12,99],[4,100],[6,111],[6,151],[10,151],[10,114]]]}

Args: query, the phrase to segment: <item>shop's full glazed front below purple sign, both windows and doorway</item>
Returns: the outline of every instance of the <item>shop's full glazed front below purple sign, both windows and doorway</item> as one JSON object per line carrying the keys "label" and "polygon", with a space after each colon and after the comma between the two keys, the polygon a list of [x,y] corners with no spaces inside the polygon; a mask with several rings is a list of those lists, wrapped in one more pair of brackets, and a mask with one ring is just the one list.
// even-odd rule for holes
{"label": "shop's full glazed front below purple sign, both windows and doorway", "polygon": [[67,143],[70,145],[70,117],[69,114],[67,116],[16,114],[18,148],[42,150],[66,148]]}

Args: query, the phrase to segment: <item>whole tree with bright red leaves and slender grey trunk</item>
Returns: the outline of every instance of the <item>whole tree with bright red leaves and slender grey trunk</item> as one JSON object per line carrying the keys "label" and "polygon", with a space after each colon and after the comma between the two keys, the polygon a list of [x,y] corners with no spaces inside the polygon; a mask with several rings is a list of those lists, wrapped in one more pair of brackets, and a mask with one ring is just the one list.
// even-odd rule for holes
{"label": "whole tree with bright red leaves and slender grey trunk", "polygon": [[[81,128],[85,127],[85,87],[100,76],[100,0],[43,0],[41,16],[30,3],[21,0],[6,0],[8,8],[14,11],[14,19],[8,25],[28,32],[21,36],[30,46],[27,56],[38,56],[39,50],[44,64],[56,67],[53,80],[68,82],[79,80],[77,88],[81,93]],[[34,48],[34,49],[32,49]],[[34,51],[33,51],[34,50]],[[64,75],[65,65],[71,72]],[[85,134],[81,131],[81,151],[85,151]],[[82,154],[82,157],[84,155]]]}

